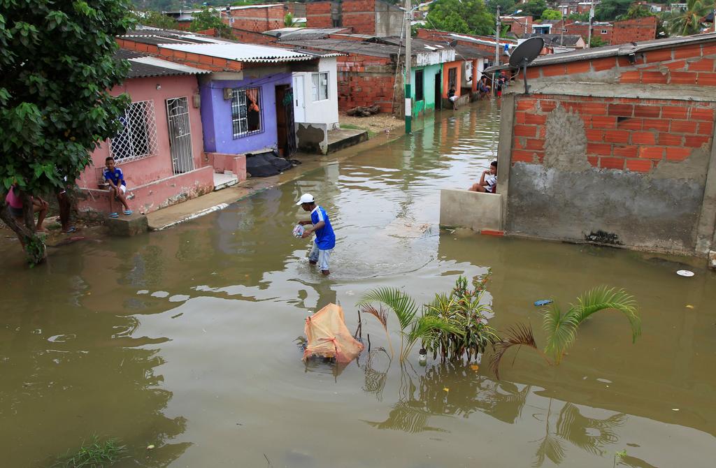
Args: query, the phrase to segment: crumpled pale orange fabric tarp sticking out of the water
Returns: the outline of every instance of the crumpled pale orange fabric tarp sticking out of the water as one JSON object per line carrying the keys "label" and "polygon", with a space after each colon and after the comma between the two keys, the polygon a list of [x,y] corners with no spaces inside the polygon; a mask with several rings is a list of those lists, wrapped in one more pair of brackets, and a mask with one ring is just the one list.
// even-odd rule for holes
{"label": "crumpled pale orange fabric tarp sticking out of the water", "polygon": [[343,309],[336,304],[329,304],[306,318],[304,330],[308,338],[304,359],[322,356],[347,363],[356,359],[363,351],[363,345],[356,341],[346,328]]}

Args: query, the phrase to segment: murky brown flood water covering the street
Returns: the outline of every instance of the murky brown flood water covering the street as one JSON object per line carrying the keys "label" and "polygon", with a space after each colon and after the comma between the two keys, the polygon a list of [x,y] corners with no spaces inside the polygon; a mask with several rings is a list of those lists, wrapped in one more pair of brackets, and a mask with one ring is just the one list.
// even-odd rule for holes
{"label": "murky brown flood water covering the street", "polygon": [[[713,466],[716,276],[705,262],[438,229],[439,189],[478,180],[498,118],[484,102],[438,112],[411,137],[221,212],[67,245],[40,268],[0,252],[0,465],[49,466],[97,434],[129,447],[118,467],[608,468],[622,449],[617,466]],[[301,192],[336,231],[329,278],[291,236]],[[674,274],[683,263],[695,277]],[[380,352],[340,370],[302,363],[294,340],[326,303],[354,330],[371,288],[423,303],[487,268],[497,328],[529,321],[543,343],[534,301],[566,307],[606,284],[636,296],[643,336],[632,344],[626,318],[598,313],[561,366],[526,349],[512,364],[511,351],[500,381],[486,361],[417,366],[417,350],[405,369]],[[368,333],[387,346],[371,317]]]}

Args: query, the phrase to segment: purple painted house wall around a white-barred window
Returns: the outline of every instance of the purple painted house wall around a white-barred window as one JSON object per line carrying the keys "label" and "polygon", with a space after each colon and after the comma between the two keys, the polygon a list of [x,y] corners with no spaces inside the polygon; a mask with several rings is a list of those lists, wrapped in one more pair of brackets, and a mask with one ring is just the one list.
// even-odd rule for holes
{"label": "purple painted house wall around a white-barred window", "polygon": [[[205,152],[238,155],[264,147],[276,147],[276,86],[291,84],[291,73],[276,73],[261,78],[242,80],[211,80],[200,84],[201,122]],[[224,88],[261,87],[263,132],[233,139],[231,131],[231,99],[223,98]]]}

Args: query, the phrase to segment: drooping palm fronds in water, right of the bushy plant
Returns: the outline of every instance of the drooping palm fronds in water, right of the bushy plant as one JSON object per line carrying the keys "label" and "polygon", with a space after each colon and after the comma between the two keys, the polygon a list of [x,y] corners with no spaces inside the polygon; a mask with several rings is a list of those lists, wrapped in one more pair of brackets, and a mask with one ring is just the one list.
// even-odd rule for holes
{"label": "drooping palm fronds in water, right of the bushy plant", "polygon": [[545,346],[540,350],[535,342],[532,327],[516,324],[505,332],[505,338],[495,343],[495,353],[490,358],[490,368],[500,378],[500,364],[505,353],[513,346],[528,346],[538,351],[550,365],[558,366],[567,349],[576,340],[579,326],[599,311],[617,311],[627,317],[632,328],[632,343],[642,335],[642,319],[634,296],[623,289],[599,286],[581,294],[569,310],[563,312],[556,303],[543,309],[542,328],[546,333]]}

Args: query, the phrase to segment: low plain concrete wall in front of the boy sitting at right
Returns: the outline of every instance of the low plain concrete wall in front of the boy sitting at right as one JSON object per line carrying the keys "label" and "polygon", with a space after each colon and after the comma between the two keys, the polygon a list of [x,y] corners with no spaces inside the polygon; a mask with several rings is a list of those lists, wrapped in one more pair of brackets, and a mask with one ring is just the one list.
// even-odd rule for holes
{"label": "low plain concrete wall in front of the boy sitting at right", "polygon": [[502,195],[468,190],[440,190],[440,225],[503,230]]}

